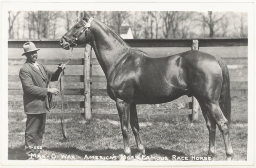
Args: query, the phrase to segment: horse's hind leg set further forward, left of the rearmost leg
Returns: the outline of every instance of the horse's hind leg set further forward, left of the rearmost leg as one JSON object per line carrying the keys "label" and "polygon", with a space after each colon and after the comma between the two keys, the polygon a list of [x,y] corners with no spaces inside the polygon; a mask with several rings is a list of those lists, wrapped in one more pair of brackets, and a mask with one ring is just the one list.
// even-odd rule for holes
{"label": "horse's hind leg set further forward, left of the rearmost leg", "polygon": [[203,103],[200,103],[200,107],[203,113],[203,116],[206,121],[206,126],[209,131],[209,150],[207,156],[214,157],[216,155],[216,148],[215,148],[215,135],[216,135],[216,121],[210,115],[207,108]]}

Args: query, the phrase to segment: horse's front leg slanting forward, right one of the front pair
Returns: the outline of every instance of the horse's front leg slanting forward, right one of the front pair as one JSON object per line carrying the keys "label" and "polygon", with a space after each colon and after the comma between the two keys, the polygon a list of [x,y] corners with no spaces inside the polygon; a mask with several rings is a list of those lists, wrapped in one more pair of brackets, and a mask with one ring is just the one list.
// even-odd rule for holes
{"label": "horse's front leg slanting forward, right one of the front pair", "polygon": [[141,142],[141,136],[139,134],[139,122],[138,122],[138,116],[137,116],[137,109],[135,104],[131,104],[130,106],[130,124],[131,129],[133,130],[133,134],[135,136],[137,148],[139,152],[144,155],[145,149]]}

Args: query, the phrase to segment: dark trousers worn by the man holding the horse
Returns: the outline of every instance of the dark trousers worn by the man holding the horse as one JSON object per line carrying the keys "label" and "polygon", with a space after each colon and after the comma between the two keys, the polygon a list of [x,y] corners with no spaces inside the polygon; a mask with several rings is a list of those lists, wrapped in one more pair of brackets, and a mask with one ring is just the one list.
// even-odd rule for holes
{"label": "dark trousers worn by the man holding the horse", "polygon": [[27,114],[25,130],[25,150],[27,157],[38,154],[42,146],[43,134],[45,133],[46,113]]}

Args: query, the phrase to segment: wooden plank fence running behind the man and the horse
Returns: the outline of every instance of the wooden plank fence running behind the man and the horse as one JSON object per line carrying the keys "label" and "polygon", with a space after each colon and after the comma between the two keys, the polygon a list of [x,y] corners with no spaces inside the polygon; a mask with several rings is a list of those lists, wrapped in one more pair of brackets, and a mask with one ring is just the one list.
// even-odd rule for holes
{"label": "wooden plank fence running behind the man and the horse", "polygon": [[[200,50],[200,47],[248,45],[248,39],[127,39],[125,41],[132,47],[189,47],[192,50]],[[25,62],[25,58],[16,58],[15,55],[21,55],[22,45],[25,42],[21,40],[8,41],[8,106],[11,111],[23,111],[23,91],[19,80],[19,68]],[[67,61],[69,53],[60,49],[58,41],[33,40],[32,42],[37,47],[42,48],[39,51],[39,62],[49,69],[52,69],[56,63]],[[98,118],[110,117],[116,119],[118,115],[115,102],[107,96],[106,92],[106,78],[103,73],[97,74],[101,70],[99,62],[94,54],[91,54],[93,52],[91,52],[90,46],[87,45],[83,50],[84,47],[85,45],[80,45],[74,49],[74,52],[78,49],[79,52],[74,53],[75,59],[69,63],[65,71],[65,112],[85,113],[87,119],[90,119],[91,115]],[[158,53],[157,50],[155,53]],[[56,58],[56,55],[58,55],[61,59],[40,59],[40,57],[43,57],[42,53],[48,54],[47,58]],[[77,55],[82,54],[84,58],[77,58]],[[247,55],[243,58],[225,57],[223,59],[228,65],[246,65],[248,61]],[[231,95],[247,94],[247,71],[245,74],[237,74],[237,71],[230,69],[230,81]],[[198,103],[196,101],[191,103],[191,98],[189,99],[187,96],[161,105],[137,105],[137,108],[138,117],[144,119],[170,120],[189,117],[194,121],[198,120]],[[189,109],[192,109],[192,112]],[[59,112],[58,108],[54,111]],[[172,112],[170,113],[170,111]]]}

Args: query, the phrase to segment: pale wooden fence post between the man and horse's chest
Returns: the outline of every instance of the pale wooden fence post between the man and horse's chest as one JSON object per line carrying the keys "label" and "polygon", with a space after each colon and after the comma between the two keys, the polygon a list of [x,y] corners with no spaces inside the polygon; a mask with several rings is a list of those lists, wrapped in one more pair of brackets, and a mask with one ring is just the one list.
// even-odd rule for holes
{"label": "pale wooden fence post between the man and horse's chest", "polygon": [[90,62],[91,62],[91,45],[86,44],[84,64],[83,64],[83,86],[85,102],[85,120],[91,120],[91,87],[90,87]]}

